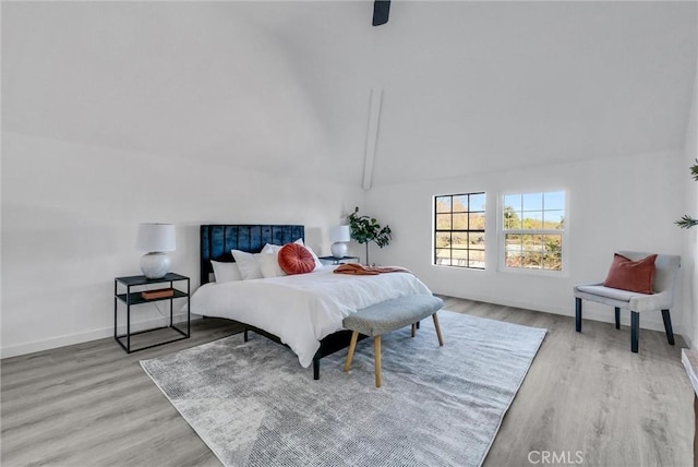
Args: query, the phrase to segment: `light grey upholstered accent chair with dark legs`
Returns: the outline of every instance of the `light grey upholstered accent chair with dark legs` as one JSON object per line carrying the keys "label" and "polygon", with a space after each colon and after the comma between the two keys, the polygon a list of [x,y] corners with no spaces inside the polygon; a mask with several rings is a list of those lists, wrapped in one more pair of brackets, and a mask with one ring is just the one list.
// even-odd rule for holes
{"label": "light grey upholstered accent chair with dark legs", "polygon": [[[633,261],[639,261],[652,253],[637,251],[618,251],[618,254]],[[575,325],[581,332],[581,300],[594,301],[615,308],[615,328],[621,328],[621,310],[630,310],[630,350],[638,351],[640,334],[640,313],[649,311],[662,312],[666,340],[674,345],[674,332],[670,309],[674,304],[674,284],[676,273],[681,266],[681,256],[674,254],[658,254],[654,262],[655,275],[654,294],[639,294],[629,290],[604,287],[603,283],[575,286]]]}

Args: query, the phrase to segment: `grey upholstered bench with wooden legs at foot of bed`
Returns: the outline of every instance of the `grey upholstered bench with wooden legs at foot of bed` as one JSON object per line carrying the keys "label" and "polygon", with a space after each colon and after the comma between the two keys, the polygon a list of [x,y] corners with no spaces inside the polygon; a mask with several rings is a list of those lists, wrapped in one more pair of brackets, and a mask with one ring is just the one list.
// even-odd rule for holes
{"label": "grey upholstered bench with wooden legs at foot of bed", "polygon": [[345,371],[351,368],[351,359],[357,347],[359,335],[372,336],[375,360],[375,386],[381,387],[381,335],[407,325],[412,326],[412,337],[417,323],[431,315],[434,319],[438,345],[444,345],[436,312],[442,309],[444,301],[431,295],[413,295],[386,300],[381,303],[364,308],[345,318],[344,326],[352,332],[349,343],[349,354]]}

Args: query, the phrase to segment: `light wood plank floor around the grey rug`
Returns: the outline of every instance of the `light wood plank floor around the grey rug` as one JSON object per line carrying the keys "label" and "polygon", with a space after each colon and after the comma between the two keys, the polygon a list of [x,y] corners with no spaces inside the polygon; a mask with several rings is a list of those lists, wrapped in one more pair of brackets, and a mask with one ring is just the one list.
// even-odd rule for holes
{"label": "light wood plank floor around the grey rug", "polygon": [[[453,298],[446,309],[549,331],[485,466],[693,465],[683,339],[643,330],[634,355],[625,326],[585,321],[578,334],[568,316]],[[192,331],[131,355],[101,339],[2,360],[0,464],[220,465],[139,364],[240,330],[209,319]]]}

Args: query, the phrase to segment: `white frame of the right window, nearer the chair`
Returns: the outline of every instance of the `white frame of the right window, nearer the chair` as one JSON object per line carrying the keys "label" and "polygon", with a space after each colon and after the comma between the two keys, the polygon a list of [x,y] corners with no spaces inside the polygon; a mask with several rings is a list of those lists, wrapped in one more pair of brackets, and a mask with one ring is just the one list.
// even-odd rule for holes
{"label": "white frame of the right window, nearer the chair", "polygon": [[[505,196],[507,195],[526,195],[533,193],[557,193],[563,192],[565,196],[564,203],[564,228],[563,229],[505,229],[504,226],[504,209],[505,209]],[[542,212],[545,211],[545,206],[542,207]],[[516,274],[529,274],[529,275],[542,275],[554,277],[566,277],[569,272],[569,190],[564,188],[544,189],[544,190],[507,190],[500,193],[497,203],[497,264],[501,272],[516,273]],[[530,267],[513,267],[506,264],[506,235],[507,234],[520,234],[520,235],[562,235],[562,267],[559,271],[543,270],[543,268],[530,268]]]}

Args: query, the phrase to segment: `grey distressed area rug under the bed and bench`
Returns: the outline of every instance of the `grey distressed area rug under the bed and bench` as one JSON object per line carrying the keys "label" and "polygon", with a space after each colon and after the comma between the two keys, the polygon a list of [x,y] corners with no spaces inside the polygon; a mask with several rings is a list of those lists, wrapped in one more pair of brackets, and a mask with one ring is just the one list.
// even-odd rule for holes
{"label": "grey distressed area rug under the bed and bench", "polygon": [[545,330],[441,311],[322,360],[321,379],[288,348],[251,334],[141,362],[226,466],[479,466]]}

